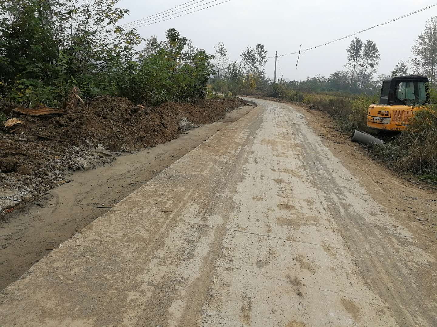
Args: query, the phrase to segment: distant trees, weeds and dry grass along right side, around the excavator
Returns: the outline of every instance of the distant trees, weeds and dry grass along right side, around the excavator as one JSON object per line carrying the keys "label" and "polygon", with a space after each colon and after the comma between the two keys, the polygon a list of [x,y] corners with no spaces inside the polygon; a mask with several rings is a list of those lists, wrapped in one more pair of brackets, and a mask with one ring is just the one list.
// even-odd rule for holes
{"label": "distant trees, weeds and dry grass along right side, around the excavator", "polygon": [[[303,81],[279,76],[268,78],[264,71],[267,51],[264,45],[248,47],[240,60],[230,61],[225,45],[215,47],[215,70],[212,89],[224,94],[267,96],[305,105],[327,112],[344,133],[353,130],[375,133],[366,126],[367,110],[378,103],[382,81],[389,76],[426,75],[430,79],[431,103],[437,103],[437,17],[425,24],[424,31],[413,41],[412,58],[400,60],[392,72],[377,75],[381,54],[375,42],[354,38],[346,49],[345,69],[329,77],[317,75]],[[419,174],[437,182],[437,113],[434,106],[421,110],[399,137],[371,148],[373,153],[398,171]]]}

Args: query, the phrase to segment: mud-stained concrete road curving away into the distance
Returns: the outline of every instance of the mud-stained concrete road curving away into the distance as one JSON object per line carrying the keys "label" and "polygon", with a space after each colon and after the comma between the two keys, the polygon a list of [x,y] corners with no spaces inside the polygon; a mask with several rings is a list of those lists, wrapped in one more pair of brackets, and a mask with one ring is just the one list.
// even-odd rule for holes
{"label": "mud-stained concrete road curving away into the distance", "polygon": [[255,101],[3,290],[0,324],[436,326],[435,242]]}

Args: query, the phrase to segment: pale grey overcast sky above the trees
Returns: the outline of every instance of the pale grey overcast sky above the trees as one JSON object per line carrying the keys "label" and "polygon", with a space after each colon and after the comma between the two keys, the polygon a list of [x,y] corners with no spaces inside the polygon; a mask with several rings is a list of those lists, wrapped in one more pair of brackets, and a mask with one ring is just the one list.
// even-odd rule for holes
{"label": "pale grey overcast sky above the trees", "polygon": [[[121,0],[118,7],[130,10],[129,16],[121,24],[187,1]],[[294,52],[301,43],[302,49],[310,48],[433,3],[434,0],[232,0],[193,14],[139,27],[137,30],[144,38],[156,35],[162,40],[167,29],[176,28],[193,41],[196,47],[212,54],[213,46],[221,41],[230,59],[238,60],[243,49],[247,46],[255,47],[257,43],[265,45],[269,56],[274,56],[275,51],[278,54]],[[437,16],[437,6],[358,35],[363,41],[375,41],[378,46],[381,52],[380,74],[389,74],[397,61],[409,59],[413,40],[423,31],[425,21],[431,16]],[[277,75],[288,79],[305,79],[318,74],[329,76],[343,69],[347,61],[345,49],[353,38],[307,51],[301,55],[297,70],[297,55],[280,57]],[[274,59],[270,59],[266,66],[267,76],[272,77],[273,71]]]}

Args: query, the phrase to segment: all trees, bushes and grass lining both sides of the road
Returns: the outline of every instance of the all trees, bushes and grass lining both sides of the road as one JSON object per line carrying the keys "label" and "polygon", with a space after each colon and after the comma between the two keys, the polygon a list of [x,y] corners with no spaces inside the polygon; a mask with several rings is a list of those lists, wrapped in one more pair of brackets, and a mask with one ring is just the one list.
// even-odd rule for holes
{"label": "all trees, bushes and grass lining both sides of the road", "polygon": [[[1,123],[10,118],[5,109],[9,105],[66,108],[112,96],[157,106],[222,93],[302,103],[327,112],[344,132],[368,131],[366,111],[378,102],[382,80],[409,73],[430,78],[432,102],[437,103],[437,17],[414,40],[412,58],[396,63],[388,75],[377,75],[377,44],[355,37],[346,49],[343,70],[303,81],[278,76],[273,82],[265,74],[269,54],[264,44],[247,47],[239,60],[231,61],[225,44],[218,43],[215,54],[208,54],[175,29],[163,41],[143,39],[135,29],[117,26],[128,10],[116,4],[0,0]],[[399,169],[434,178],[435,153],[429,148],[436,148],[435,119],[433,110],[420,113],[399,138],[375,153]]]}

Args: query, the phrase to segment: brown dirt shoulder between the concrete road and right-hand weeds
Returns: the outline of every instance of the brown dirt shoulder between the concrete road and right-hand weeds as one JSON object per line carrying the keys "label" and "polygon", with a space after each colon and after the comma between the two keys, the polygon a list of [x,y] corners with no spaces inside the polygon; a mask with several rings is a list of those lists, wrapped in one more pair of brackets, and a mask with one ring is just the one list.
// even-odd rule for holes
{"label": "brown dirt shoulder between the concrete road and right-hand weeds", "polygon": [[420,241],[423,249],[437,256],[437,191],[396,174],[384,164],[373,160],[368,150],[350,141],[335,128],[333,119],[323,112],[292,105],[305,114],[309,126],[320,136],[347,169],[378,203],[394,213]]}

